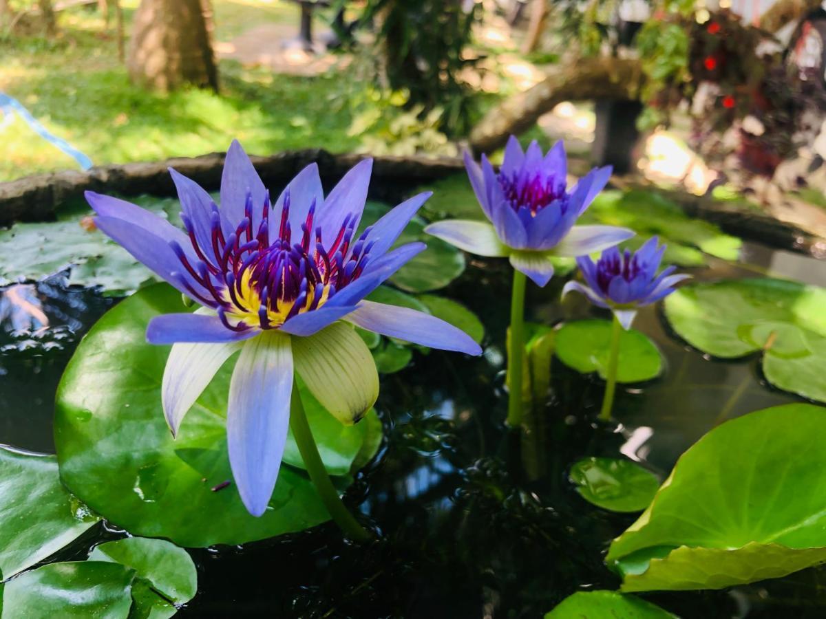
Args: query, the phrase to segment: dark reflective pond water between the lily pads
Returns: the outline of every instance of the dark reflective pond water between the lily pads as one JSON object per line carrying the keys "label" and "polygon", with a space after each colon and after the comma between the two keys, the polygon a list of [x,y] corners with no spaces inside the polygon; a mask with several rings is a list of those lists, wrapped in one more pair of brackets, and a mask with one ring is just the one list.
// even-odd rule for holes
{"label": "dark reflective pond water between the lily pads", "polygon": [[[698,279],[774,274],[826,284],[821,262],[750,246],[757,272],[719,262]],[[620,389],[619,429],[595,423],[603,385],[553,361],[553,395],[529,432],[508,432],[502,389],[510,273],[471,259],[439,294],[461,300],[487,328],[485,356],[415,354],[382,376],[377,403],[386,441],[347,501],[382,533],[368,547],[332,524],[243,548],[191,550],[199,593],[180,617],[539,617],[580,589],[617,588],[602,563],[635,515],[586,503],[567,480],[582,456],[641,461],[664,478],[721,418],[800,401],[768,386],[757,357],[718,361],[669,333],[660,309],[634,324],[657,343],[664,375]],[[529,319],[553,324],[593,310],[561,281],[529,286]],[[78,339],[116,300],[67,290],[61,278],[0,291],[0,442],[53,451],[55,388]],[[697,500],[703,500],[697,497]],[[60,558],[119,535],[97,529]],[[717,592],[643,597],[681,617],[826,617],[826,571]]]}

